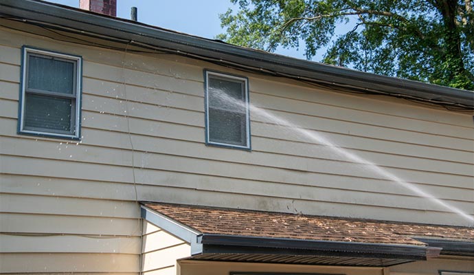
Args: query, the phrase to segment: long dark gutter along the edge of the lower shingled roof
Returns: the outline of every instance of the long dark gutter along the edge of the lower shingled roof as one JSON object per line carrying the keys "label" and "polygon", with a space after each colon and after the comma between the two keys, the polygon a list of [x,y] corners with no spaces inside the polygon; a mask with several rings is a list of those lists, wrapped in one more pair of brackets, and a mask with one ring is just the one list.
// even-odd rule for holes
{"label": "long dark gutter along the edge of the lower shingled roof", "polygon": [[315,241],[222,234],[202,234],[198,236],[197,243],[203,245],[203,254],[290,254],[425,261],[438,256],[441,251],[441,248],[424,245]]}

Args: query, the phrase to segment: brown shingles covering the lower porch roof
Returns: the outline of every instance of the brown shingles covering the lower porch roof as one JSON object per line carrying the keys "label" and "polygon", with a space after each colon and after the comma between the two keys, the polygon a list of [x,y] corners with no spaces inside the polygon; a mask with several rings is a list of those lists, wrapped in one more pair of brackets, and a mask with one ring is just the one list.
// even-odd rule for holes
{"label": "brown shingles covering the lower porch roof", "polygon": [[474,228],[451,225],[324,217],[170,203],[143,204],[201,233],[403,245],[425,245],[413,239],[414,236],[474,241]]}

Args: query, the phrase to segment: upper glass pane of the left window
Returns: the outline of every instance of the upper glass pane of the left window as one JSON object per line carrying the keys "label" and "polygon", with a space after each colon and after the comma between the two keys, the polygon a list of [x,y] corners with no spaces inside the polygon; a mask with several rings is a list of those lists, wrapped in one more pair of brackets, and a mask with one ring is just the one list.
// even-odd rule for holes
{"label": "upper glass pane of the left window", "polygon": [[28,58],[28,89],[72,94],[75,63],[30,55]]}

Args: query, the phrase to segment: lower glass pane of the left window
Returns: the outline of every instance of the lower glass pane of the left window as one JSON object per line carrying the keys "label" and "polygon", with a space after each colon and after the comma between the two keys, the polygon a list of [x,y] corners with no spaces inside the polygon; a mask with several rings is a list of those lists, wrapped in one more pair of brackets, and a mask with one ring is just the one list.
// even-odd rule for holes
{"label": "lower glass pane of the left window", "polygon": [[25,100],[25,129],[74,131],[74,125],[71,125],[73,100],[34,94],[27,94]]}

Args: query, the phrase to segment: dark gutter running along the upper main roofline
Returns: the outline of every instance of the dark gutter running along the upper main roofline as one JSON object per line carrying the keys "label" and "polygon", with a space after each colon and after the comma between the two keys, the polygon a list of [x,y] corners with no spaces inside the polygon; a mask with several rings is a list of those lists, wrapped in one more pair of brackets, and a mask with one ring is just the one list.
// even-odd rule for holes
{"label": "dark gutter running along the upper main roofline", "polygon": [[474,109],[474,93],[472,91],[379,76],[251,50],[37,0],[0,0],[0,7],[0,13],[9,17],[52,23],[63,28],[83,31],[85,35],[92,33],[123,41],[135,41],[170,49],[185,56],[190,54],[212,58],[225,65],[232,66],[234,64],[237,68],[252,67],[257,72],[258,70],[272,72],[275,76],[312,81],[348,91],[375,91],[400,98],[426,100]]}

